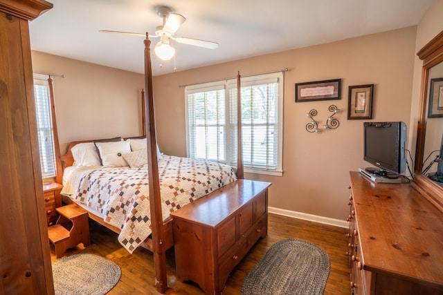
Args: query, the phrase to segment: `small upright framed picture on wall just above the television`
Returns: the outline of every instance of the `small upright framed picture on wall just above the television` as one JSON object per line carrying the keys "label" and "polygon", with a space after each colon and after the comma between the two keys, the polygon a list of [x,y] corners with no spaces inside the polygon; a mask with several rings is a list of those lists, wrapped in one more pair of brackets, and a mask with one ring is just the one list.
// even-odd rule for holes
{"label": "small upright framed picture on wall just above the television", "polygon": [[349,86],[347,119],[372,119],[374,84]]}

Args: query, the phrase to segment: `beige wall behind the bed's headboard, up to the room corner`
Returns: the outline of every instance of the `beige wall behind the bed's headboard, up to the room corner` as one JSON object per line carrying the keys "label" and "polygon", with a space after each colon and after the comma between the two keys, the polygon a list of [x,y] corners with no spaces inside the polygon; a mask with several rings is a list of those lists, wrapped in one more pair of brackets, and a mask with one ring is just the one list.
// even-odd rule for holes
{"label": "beige wall behind the bed's headboard, up to the room corner", "polygon": [[53,77],[62,155],[75,140],[141,135],[143,75],[33,51],[34,73]]}

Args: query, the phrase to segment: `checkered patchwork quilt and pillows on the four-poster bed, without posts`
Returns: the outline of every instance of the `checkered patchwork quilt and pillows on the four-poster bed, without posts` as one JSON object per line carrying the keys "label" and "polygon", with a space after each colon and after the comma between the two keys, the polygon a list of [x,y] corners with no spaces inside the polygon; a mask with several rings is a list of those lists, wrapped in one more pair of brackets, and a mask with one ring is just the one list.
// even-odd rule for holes
{"label": "checkered patchwork quilt and pillows on the four-poster bed, without posts", "polygon": [[[102,146],[107,146],[107,151],[114,149],[114,154],[123,153],[118,159],[121,163],[109,157],[102,160]],[[64,202],[75,202],[94,218],[101,218],[107,227],[118,229],[118,241],[132,253],[152,233],[146,138],[80,142],[73,144],[69,154],[76,164],[65,169]],[[163,224],[170,221],[171,212],[237,180],[233,167],[228,165],[157,155]]]}

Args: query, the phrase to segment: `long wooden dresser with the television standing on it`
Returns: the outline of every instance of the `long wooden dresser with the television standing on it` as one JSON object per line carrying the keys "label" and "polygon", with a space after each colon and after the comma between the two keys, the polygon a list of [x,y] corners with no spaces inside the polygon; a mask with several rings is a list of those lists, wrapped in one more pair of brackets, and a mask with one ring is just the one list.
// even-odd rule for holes
{"label": "long wooden dresser with the television standing on it", "polygon": [[410,184],[350,176],[352,294],[443,294],[443,213]]}

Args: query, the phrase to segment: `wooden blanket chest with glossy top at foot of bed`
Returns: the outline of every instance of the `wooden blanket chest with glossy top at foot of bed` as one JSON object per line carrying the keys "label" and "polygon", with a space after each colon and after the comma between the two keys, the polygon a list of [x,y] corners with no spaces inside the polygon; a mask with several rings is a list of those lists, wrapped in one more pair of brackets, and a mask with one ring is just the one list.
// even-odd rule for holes
{"label": "wooden blanket chest with glossy top at foot of bed", "polygon": [[177,278],[219,294],[230,272],[268,229],[269,182],[238,180],[178,211],[174,219]]}

